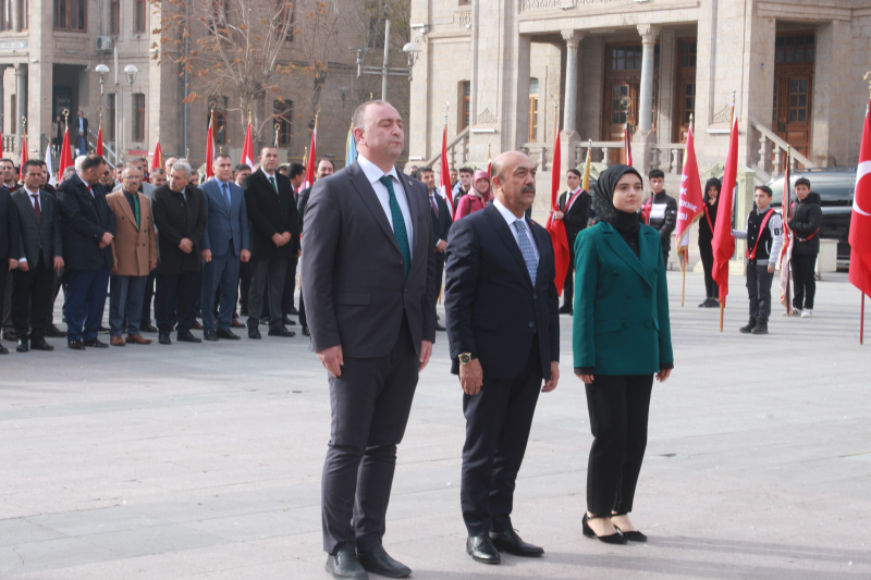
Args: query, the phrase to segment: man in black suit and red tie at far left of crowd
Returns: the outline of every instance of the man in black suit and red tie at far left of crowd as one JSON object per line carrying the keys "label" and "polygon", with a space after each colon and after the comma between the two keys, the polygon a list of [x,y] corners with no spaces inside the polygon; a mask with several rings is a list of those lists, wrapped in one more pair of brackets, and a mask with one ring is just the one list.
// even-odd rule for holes
{"label": "man in black suit and red tie at far left of crowd", "polygon": [[12,195],[22,243],[19,268],[12,274],[15,280],[12,323],[19,337],[19,353],[30,348],[54,350],[46,342],[46,324],[40,322],[51,316],[54,272],[63,268],[63,240],[58,201],[54,196],[40,190],[41,180],[39,161],[26,161],[24,185]]}

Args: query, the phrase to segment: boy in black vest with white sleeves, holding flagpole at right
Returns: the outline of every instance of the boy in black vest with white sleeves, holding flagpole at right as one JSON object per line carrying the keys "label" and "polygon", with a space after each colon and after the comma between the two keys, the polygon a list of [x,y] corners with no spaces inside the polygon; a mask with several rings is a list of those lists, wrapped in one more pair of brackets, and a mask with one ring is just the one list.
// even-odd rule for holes
{"label": "boy in black vest with white sleeves, holding flagpole at right", "polygon": [[747,294],[750,296],[750,322],[741,326],[744,334],[768,334],[771,316],[771,282],[774,264],[783,246],[783,218],[771,209],[771,187],[758,185],[753,190],[756,210],[747,217],[747,231],[733,230],[738,239],[747,240]]}

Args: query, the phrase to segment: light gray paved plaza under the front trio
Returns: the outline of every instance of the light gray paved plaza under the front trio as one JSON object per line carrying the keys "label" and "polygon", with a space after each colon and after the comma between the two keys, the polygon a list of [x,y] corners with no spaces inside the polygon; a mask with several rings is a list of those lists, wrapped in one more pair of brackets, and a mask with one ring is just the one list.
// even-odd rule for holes
{"label": "light gray paved plaza under the front trio", "polygon": [[[871,578],[871,344],[858,345],[858,291],[830,274],[814,318],[775,309],[771,335],[746,336],[741,277],[723,334],[717,312],[696,307],[699,274],[683,309],[679,274],[668,282],[675,371],[654,386],[634,514],[650,542],[581,535],[591,435],[563,316],[563,377],[539,399],[513,517],[547,554],[474,563],[461,392],[440,333],[384,539],[413,578]],[[76,353],[56,340],[54,353],[0,358],[0,577],[328,578],[330,407],[306,343]]]}

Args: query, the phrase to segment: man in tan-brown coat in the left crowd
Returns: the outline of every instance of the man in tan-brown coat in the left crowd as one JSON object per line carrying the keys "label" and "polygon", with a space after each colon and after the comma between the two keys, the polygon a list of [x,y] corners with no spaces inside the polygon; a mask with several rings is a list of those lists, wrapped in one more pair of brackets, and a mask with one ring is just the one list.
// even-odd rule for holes
{"label": "man in tan-brown coat in the left crowd", "polygon": [[109,284],[109,332],[112,346],[126,344],[122,336],[126,320],[127,343],[151,344],[139,334],[145,282],[157,267],[151,200],[138,193],[143,177],[138,168],[127,165],[121,174],[122,189],[106,196],[115,218],[112,240],[114,268]]}

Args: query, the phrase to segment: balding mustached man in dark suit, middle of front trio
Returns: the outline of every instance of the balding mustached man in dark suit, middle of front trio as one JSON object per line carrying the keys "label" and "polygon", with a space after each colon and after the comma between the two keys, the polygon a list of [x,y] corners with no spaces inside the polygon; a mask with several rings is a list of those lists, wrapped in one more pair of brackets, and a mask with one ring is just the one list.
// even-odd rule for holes
{"label": "balding mustached man in dark suit, middle of front trio", "polygon": [[539,391],[553,391],[560,378],[553,246],[525,217],[536,198],[535,168],[519,151],[496,157],[495,200],[458,220],[447,240],[451,371],[459,374],[466,416],[459,497],[466,551],[487,564],[500,562],[500,550],[544,553],[520,540],[511,522]]}

